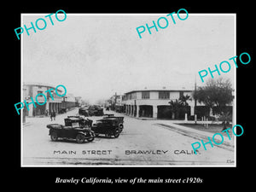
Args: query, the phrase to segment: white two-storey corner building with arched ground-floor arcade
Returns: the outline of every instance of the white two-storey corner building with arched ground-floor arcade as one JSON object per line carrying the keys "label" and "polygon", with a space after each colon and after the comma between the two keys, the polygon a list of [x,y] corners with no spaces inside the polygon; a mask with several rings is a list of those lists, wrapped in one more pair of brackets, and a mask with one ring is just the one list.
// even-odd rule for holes
{"label": "white two-storey corner building with arched ground-floor arcade", "polygon": [[188,113],[195,114],[195,100],[192,98],[192,91],[182,89],[144,89],[132,90],[125,93],[123,101],[125,113],[134,117],[148,117],[158,119],[173,119],[170,111],[170,101],[178,100],[181,96],[189,96]]}

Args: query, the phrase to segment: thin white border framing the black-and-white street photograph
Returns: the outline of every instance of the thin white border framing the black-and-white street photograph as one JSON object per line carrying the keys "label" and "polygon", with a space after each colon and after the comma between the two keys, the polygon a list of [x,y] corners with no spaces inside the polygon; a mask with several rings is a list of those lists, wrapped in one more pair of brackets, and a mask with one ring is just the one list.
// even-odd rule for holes
{"label": "thin white border framing the black-and-white street photograph", "polygon": [[[46,15],[47,13],[45,14],[20,14],[20,25],[23,26],[23,20],[22,20],[22,16],[23,15]],[[168,14],[168,13],[166,13]],[[163,13],[160,13],[160,14],[67,14],[67,15],[166,15],[166,14],[163,14]],[[177,15],[177,14],[175,14]],[[180,15],[185,15],[185,14],[180,14]],[[232,15],[232,16],[235,16],[235,55],[236,55],[236,13],[234,14],[189,14],[189,15]],[[20,95],[20,101],[23,101],[23,52],[22,52],[22,49],[23,49],[23,33],[20,35],[20,65],[21,65],[21,70],[20,70],[20,77],[21,77],[21,81],[20,81],[20,92],[21,92],[21,95]],[[233,121],[233,124],[236,125],[236,68],[234,68],[234,73],[235,73],[235,81],[234,81],[234,90],[235,90],[235,98],[234,98],[234,104],[233,104],[233,108],[235,106],[235,118],[234,118],[234,121]],[[72,165],[69,165],[69,166],[59,166],[59,165],[55,165],[55,166],[25,166],[23,165],[23,110],[21,110],[21,113],[20,113],[20,167],[236,167],[236,137],[234,136],[233,134],[233,138],[235,137],[235,165],[230,165],[228,166],[227,165],[221,165],[221,166],[72,166]],[[231,138],[231,139],[233,139]]]}

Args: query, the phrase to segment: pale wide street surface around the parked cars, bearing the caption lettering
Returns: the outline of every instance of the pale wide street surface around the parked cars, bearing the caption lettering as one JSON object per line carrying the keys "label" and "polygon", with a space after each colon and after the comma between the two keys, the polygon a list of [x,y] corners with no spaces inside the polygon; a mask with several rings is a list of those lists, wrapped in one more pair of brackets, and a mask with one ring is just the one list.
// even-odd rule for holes
{"label": "pale wide street surface around the parked cars, bearing the caption lettering", "polygon": [[[67,115],[76,113],[78,108],[58,115],[54,123],[64,124]],[[207,136],[170,120],[125,115],[125,128],[118,138],[96,137],[83,144],[52,142],[46,128],[52,123],[49,118],[27,118],[26,122],[22,129],[23,166],[234,166],[234,146],[226,137],[224,144],[213,148],[207,144],[207,150],[201,147],[195,154],[191,143],[207,141]]]}

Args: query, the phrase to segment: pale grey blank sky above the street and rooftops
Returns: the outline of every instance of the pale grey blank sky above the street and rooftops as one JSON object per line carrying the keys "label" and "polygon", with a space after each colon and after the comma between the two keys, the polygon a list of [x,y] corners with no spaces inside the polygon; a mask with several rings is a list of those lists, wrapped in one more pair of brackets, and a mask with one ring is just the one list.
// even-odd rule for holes
{"label": "pale grey blank sky above the street and rooftops", "polygon": [[[29,27],[44,15],[49,13],[21,15],[22,25]],[[151,26],[166,15],[67,13],[61,22],[52,15],[54,26],[46,20],[44,30],[21,36],[22,81],[63,84],[67,93],[96,102],[144,87],[189,89],[195,79],[203,85],[199,71],[214,70],[236,55],[234,15],[191,14],[187,20],[174,15],[175,25],[169,18],[165,29],[153,28],[139,38],[138,26]],[[230,64],[230,72],[220,76],[234,84],[236,69]]]}

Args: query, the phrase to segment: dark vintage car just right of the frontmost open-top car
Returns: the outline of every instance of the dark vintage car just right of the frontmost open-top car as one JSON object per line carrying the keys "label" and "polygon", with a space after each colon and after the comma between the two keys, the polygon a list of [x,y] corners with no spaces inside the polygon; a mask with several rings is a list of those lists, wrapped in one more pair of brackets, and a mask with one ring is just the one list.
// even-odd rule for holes
{"label": "dark vintage car just right of the frontmost open-top car", "polygon": [[119,137],[122,131],[119,125],[119,120],[116,118],[103,118],[96,120],[96,124],[91,126],[91,130],[95,132],[96,137],[104,134],[105,137]]}

